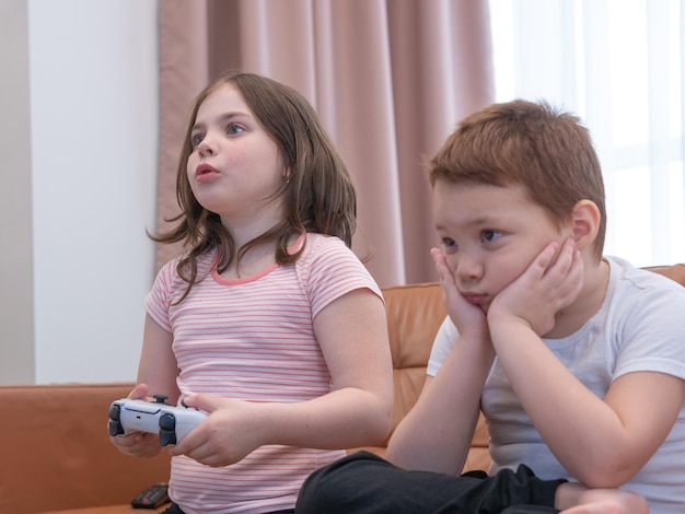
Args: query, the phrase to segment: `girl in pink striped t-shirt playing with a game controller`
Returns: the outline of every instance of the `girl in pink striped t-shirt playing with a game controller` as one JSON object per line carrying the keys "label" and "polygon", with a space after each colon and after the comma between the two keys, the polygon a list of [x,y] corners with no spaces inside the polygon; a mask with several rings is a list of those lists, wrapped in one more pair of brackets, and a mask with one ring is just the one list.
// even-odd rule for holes
{"label": "girl in pink striped t-shirt playing with a game controller", "polygon": [[[209,413],[171,449],[167,513],[293,512],[309,474],[391,427],[381,291],[351,252],[356,194],[313,108],[249,73],[195,101],[178,164],[183,242],[146,299],[131,398]],[[152,456],[156,434],[113,437]]]}

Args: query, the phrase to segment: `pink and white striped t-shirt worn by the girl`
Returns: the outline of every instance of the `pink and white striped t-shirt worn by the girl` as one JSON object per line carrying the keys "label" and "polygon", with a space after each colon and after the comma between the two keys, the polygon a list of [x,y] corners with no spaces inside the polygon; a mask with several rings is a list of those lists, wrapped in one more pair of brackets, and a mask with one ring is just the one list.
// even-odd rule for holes
{"label": "pink and white striped t-shirt worn by the girl", "polygon": [[[213,257],[201,258],[198,277],[212,268]],[[318,234],[307,234],[294,265],[241,280],[225,280],[213,270],[173,305],[186,285],[173,260],[146,299],[150,316],[174,335],[181,393],[249,401],[305,401],[330,392],[314,317],[353,290],[369,289],[382,299],[355,254],[340,240]],[[174,457],[170,495],[186,514],[292,509],[304,479],[342,455],[268,445],[219,468]]]}

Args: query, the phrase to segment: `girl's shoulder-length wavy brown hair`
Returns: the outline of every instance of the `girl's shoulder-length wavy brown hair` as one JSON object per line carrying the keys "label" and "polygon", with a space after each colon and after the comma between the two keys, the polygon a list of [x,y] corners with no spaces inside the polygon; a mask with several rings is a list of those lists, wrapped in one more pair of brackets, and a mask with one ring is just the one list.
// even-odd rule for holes
{"label": "girl's shoulder-length wavy brown hair", "polygon": [[[274,195],[274,199],[283,199],[286,218],[241,248],[235,247],[220,217],[197,201],[186,173],[198,109],[213,91],[229,84],[240,91],[257,121],[278,145],[288,175]],[[179,302],[202,279],[198,277],[198,258],[213,248],[218,249],[220,273],[234,261],[240,264],[251,248],[274,242],[276,261],[288,265],[304,250],[303,245],[294,254],[289,253],[293,236],[307,232],[333,235],[351,247],[357,227],[357,195],[351,177],[316,112],[292,87],[253,73],[218,78],[195,98],[178,159],[176,198],[181,213],[167,220],[174,226],[150,237],[159,243],[183,242],[187,250],[176,266],[178,274],[188,282]]]}

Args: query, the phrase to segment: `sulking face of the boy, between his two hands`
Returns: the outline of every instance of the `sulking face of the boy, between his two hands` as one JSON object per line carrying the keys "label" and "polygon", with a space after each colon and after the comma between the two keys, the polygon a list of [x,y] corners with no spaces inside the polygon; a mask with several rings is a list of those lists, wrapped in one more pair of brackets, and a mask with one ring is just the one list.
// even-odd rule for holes
{"label": "sulking face of the boy, between his two hands", "polygon": [[521,186],[452,184],[433,187],[433,220],[460,292],[486,313],[492,299],[553,241],[571,231]]}

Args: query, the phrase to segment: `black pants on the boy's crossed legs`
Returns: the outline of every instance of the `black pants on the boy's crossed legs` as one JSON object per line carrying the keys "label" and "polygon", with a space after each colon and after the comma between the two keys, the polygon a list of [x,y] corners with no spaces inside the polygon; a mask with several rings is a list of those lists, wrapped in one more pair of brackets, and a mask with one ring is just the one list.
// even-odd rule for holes
{"label": "black pants on the boy's crossed legs", "polygon": [[408,471],[359,452],[314,471],[300,491],[298,514],[532,514],[557,513],[566,480],[541,480],[526,466],[492,477]]}

